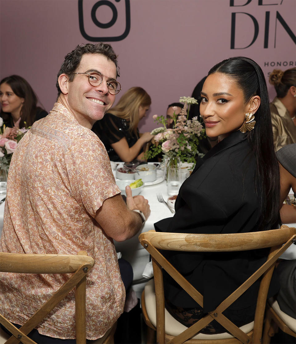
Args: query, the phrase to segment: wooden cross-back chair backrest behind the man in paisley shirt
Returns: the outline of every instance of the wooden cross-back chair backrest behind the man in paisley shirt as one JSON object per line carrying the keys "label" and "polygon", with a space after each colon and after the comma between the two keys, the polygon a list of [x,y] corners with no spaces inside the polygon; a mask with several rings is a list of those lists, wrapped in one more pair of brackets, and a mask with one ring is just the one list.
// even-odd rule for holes
{"label": "wooden cross-back chair backrest behind the man in paisley shirt", "polygon": [[76,343],[86,343],[85,299],[86,274],[95,261],[85,251],[77,255],[53,254],[18,254],[0,252],[0,271],[15,273],[73,273],[52,297],[23,325],[17,329],[0,314],[0,323],[12,334],[6,343],[35,343],[27,334],[40,323],[51,310],[74,288],[75,289],[75,322]]}

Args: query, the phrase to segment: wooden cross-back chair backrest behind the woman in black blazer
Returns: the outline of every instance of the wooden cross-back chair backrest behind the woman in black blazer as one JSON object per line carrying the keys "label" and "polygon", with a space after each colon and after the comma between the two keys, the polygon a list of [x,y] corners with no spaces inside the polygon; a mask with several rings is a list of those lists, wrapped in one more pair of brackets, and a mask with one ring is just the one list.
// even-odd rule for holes
{"label": "wooden cross-back chair backrest behind the woman in black blazer", "polygon": [[253,342],[260,343],[267,292],[276,260],[295,241],[296,229],[283,225],[279,229],[252,233],[234,234],[182,234],[160,233],[150,230],[139,235],[142,246],[150,253],[154,270],[156,293],[156,332],[157,342],[165,343],[165,302],[163,292],[162,268],[201,306],[203,295],[190,284],[168,260],[161,250],[191,252],[230,252],[246,251],[270,247],[267,261],[256,270],[239,288],[229,295],[212,312],[176,336],[171,343],[183,343],[207,326],[213,319],[218,321],[242,343],[249,343],[250,337],[227,319],[222,312],[240,297],[258,278],[262,276],[257,297],[254,319]]}

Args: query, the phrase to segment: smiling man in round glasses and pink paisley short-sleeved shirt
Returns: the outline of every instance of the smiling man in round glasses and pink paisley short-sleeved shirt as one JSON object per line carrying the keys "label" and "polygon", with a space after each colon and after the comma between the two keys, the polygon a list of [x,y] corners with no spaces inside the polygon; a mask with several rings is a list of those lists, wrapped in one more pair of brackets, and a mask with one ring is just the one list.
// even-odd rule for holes
{"label": "smiling man in round glasses and pink paisley short-sleeved shirt", "polygon": [[[117,76],[109,44],[77,46],[66,55],[57,77],[56,104],[13,154],[0,242],[4,252],[84,250],[95,259],[86,290],[90,340],[102,337],[123,312],[125,290],[113,239],[133,237],[150,214],[148,201],[133,198],[129,187],[123,201],[104,145],[91,131],[115,101]],[[2,273],[0,312],[23,324],[62,283],[56,275]],[[51,342],[49,337],[75,338],[73,294],[37,330],[48,336],[45,343]]]}

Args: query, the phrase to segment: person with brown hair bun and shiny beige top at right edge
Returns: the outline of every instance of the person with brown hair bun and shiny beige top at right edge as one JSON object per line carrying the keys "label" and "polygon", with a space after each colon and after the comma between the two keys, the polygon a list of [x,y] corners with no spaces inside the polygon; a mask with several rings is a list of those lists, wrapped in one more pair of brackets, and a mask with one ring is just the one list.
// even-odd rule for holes
{"label": "person with brown hair bun and shiny beige top at right edge", "polygon": [[269,76],[276,97],[270,104],[274,148],[279,150],[286,144],[296,143],[296,68],[285,72],[274,69]]}

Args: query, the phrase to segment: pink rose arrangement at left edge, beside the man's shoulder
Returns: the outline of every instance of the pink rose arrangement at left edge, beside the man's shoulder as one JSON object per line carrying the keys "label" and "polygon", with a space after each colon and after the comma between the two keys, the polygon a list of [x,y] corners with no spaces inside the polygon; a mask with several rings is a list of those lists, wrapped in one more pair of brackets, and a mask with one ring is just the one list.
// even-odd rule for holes
{"label": "pink rose arrangement at left edge, beside the man's shoulder", "polygon": [[0,170],[9,169],[10,161],[18,142],[30,128],[18,128],[18,123],[13,128],[3,125],[3,119],[0,117]]}

